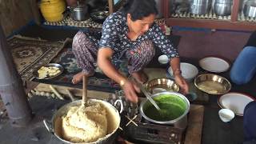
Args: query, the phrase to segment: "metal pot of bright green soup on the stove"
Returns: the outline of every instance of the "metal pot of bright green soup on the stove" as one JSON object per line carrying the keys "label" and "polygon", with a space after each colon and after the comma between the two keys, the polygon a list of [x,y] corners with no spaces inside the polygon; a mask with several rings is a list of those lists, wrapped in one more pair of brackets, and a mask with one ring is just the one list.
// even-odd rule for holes
{"label": "metal pot of bright green soup on the stove", "polygon": [[145,100],[141,102],[140,113],[149,122],[158,124],[174,125],[181,129],[186,128],[187,113],[190,110],[189,100],[182,94],[176,92],[161,92],[152,95],[161,110],[157,110]]}

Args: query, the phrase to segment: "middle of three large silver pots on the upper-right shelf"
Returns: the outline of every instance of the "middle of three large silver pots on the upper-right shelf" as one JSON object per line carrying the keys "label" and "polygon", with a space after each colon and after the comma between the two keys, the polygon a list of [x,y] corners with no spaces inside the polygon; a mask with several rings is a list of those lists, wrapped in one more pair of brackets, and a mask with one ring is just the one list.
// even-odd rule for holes
{"label": "middle of three large silver pots on the upper-right shelf", "polygon": [[214,12],[219,16],[226,16],[231,14],[232,3],[214,3]]}

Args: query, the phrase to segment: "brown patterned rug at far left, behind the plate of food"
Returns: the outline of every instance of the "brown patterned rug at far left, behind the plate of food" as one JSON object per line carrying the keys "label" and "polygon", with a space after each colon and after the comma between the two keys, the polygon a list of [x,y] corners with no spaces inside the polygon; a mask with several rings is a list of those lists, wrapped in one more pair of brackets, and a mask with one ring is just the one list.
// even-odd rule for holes
{"label": "brown patterned rug at far left, behind the plate of food", "polygon": [[48,42],[20,35],[15,35],[7,40],[22,80],[33,78],[33,71],[49,63],[62,50],[67,41],[69,40],[67,39],[65,42]]}

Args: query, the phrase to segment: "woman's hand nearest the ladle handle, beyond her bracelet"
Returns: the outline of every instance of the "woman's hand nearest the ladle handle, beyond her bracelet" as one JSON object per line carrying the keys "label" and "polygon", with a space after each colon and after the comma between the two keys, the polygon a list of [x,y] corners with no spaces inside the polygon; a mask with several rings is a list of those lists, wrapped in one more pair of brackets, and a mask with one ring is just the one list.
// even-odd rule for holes
{"label": "woman's hand nearest the ladle handle, beyond her bracelet", "polygon": [[140,93],[140,89],[134,82],[126,80],[126,82],[122,86],[122,89],[126,94],[126,98],[130,100],[130,102],[138,102],[138,95],[136,94],[136,92]]}

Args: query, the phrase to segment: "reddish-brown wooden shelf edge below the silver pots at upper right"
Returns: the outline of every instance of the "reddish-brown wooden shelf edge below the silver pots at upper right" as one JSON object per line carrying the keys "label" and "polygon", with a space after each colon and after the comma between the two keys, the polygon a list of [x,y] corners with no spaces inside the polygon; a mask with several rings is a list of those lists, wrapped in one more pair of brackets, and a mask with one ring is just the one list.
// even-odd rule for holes
{"label": "reddish-brown wooden shelf edge below the silver pots at upper right", "polygon": [[222,30],[256,30],[256,22],[231,22],[224,20],[196,19],[196,18],[167,18],[168,26],[183,26]]}

